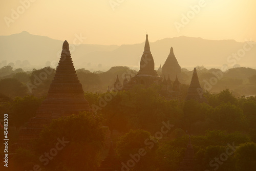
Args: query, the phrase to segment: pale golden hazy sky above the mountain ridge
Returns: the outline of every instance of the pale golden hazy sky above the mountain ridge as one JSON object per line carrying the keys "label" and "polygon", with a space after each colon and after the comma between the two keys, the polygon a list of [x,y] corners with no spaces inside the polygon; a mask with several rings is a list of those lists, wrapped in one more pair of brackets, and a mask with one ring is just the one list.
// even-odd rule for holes
{"label": "pale golden hazy sky above the mountain ridge", "polygon": [[[83,44],[101,45],[140,43],[146,32],[150,41],[182,35],[256,41],[255,0],[31,1],[1,1],[0,35],[28,31],[69,42],[82,35]],[[193,12],[195,5],[201,7]]]}

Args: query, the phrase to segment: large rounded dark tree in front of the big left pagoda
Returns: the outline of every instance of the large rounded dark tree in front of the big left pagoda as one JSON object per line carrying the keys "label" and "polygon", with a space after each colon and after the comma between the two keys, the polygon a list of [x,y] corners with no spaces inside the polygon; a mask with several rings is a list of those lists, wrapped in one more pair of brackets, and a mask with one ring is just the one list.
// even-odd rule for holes
{"label": "large rounded dark tree in front of the big left pagoda", "polygon": [[38,156],[56,146],[57,139],[66,145],[42,167],[53,170],[95,170],[100,161],[104,127],[91,113],[81,113],[53,120],[35,143]]}

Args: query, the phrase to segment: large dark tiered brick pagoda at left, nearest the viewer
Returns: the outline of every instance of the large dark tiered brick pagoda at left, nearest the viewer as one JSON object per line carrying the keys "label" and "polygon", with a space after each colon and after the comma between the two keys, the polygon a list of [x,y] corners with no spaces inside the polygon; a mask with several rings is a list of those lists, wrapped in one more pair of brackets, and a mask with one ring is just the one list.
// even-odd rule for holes
{"label": "large dark tiered brick pagoda at left, nearest the viewer", "polygon": [[73,66],[69,44],[65,40],[47,98],[36,111],[36,117],[30,118],[27,127],[20,131],[19,144],[26,146],[32,139],[37,138],[44,125],[49,124],[52,119],[83,111],[91,109],[84,98],[82,85]]}

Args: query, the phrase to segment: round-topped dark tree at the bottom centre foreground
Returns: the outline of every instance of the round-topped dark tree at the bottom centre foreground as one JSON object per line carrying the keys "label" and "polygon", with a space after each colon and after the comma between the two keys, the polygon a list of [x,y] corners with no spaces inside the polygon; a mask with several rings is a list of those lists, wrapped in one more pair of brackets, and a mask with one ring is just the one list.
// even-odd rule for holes
{"label": "round-topped dark tree at the bottom centre foreground", "polygon": [[155,170],[158,141],[144,130],[131,130],[117,142],[116,152],[122,166],[132,170]]}

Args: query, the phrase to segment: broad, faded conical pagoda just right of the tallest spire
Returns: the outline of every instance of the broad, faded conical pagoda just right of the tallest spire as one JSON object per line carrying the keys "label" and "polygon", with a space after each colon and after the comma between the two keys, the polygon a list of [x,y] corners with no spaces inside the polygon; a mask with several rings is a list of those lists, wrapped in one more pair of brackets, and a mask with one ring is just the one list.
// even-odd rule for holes
{"label": "broad, faded conical pagoda just right of the tallest spire", "polygon": [[162,67],[162,77],[167,77],[168,75],[170,76],[170,79],[172,81],[175,80],[176,75],[178,75],[179,77],[181,73],[181,67],[174,55],[174,49],[173,47],[170,48],[170,53],[166,59],[166,61],[164,62],[164,65]]}

